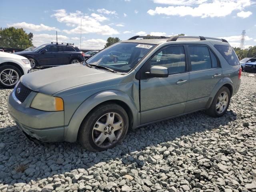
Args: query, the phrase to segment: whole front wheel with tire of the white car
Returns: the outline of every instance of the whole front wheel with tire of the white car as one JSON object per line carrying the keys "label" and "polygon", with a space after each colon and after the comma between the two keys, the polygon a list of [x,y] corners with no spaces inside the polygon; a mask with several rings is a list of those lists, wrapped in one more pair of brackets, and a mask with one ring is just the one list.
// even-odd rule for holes
{"label": "whole front wheel with tire of the white car", "polygon": [[15,66],[0,66],[0,86],[4,88],[14,88],[21,76],[21,71]]}

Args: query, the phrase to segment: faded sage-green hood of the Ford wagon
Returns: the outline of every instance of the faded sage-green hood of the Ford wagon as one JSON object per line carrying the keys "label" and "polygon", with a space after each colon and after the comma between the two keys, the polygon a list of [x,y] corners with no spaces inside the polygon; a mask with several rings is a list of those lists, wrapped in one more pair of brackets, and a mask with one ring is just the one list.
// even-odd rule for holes
{"label": "faded sage-green hood of the Ford wagon", "polygon": [[120,74],[89,68],[81,64],[69,64],[26,74],[20,78],[20,81],[33,91],[52,95],[68,88],[118,76]]}

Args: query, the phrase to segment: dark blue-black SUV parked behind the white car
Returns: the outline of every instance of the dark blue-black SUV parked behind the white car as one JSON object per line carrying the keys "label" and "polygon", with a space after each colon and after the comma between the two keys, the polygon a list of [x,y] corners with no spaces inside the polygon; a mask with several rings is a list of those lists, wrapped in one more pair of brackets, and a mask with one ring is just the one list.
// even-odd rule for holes
{"label": "dark blue-black SUV parked behind the white car", "polygon": [[15,54],[28,58],[31,68],[59,66],[78,63],[84,60],[84,53],[80,49],[74,45],[64,43],[43,44],[31,51],[21,51]]}

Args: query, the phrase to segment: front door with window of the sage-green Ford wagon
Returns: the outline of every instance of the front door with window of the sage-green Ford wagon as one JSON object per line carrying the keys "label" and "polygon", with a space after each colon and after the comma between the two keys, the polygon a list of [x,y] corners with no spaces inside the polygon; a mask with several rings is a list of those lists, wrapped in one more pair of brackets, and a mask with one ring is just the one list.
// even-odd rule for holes
{"label": "front door with window of the sage-green Ford wagon", "polygon": [[[141,68],[141,124],[176,116],[184,112],[188,97],[189,72],[183,45],[164,47]],[[168,68],[167,78],[145,75],[151,66]]]}

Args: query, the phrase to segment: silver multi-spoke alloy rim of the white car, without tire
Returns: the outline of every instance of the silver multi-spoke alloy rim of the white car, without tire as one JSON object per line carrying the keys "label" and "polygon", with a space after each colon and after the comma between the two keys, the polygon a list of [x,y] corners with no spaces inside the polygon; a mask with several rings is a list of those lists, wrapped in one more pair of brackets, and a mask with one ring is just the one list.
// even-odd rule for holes
{"label": "silver multi-spoke alloy rim of the white car, without tire", "polygon": [[14,69],[5,69],[0,73],[0,81],[6,86],[15,85],[19,80],[19,74]]}

